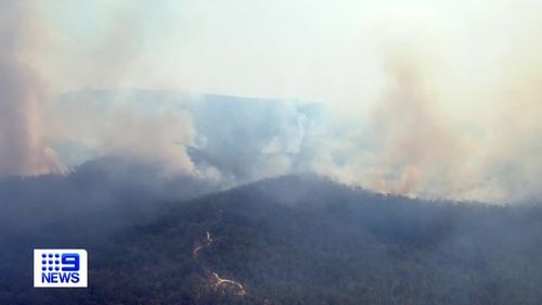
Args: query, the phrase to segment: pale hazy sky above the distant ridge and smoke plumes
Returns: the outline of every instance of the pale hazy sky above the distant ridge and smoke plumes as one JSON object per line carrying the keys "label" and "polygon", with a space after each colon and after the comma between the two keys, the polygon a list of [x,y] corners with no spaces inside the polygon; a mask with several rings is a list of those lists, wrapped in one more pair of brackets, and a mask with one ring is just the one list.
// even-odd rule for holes
{"label": "pale hazy sky above the distant ridge and smoke plumes", "polygon": [[39,3],[62,89],[124,85],[318,100],[378,92],[383,61],[402,49],[460,76],[480,69],[491,76],[515,43],[540,38],[542,7],[502,0]]}

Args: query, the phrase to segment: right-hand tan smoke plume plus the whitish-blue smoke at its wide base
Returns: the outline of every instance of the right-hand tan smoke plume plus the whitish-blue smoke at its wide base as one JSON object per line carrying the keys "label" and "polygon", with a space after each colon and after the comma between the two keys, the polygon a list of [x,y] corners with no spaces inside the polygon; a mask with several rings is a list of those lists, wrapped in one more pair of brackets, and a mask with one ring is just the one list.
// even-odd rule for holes
{"label": "right-hand tan smoke plume plus the whitish-blue smoke at its wide base", "polygon": [[383,69],[374,106],[360,115],[358,129],[339,124],[345,136],[325,139],[330,145],[320,150],[315,170],[385,193],[459,199],[459,177],[470,175],[470,135],[457,132],[439,107],[438,72],[429,59],[403,49],[388,54]]}

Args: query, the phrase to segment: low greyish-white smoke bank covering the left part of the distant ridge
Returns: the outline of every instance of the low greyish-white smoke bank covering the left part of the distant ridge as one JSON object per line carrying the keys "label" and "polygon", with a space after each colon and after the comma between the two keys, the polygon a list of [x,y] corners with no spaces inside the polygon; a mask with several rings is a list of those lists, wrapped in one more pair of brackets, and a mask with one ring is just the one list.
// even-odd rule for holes
{"label": "low greyish-white smoke bank covering the left part of the distant ridge", "polygon": [[[184,148],[195,140],[189,112],[149,110],[128,93],[114,93],[105,103],[100,98],[78,94],[56,103],[47,114],[55,122],[48,132],[66,166],[114,155],[168,164],[169,174],[202,174],[195,173]],[[152,105],[154,101],[143,102]]]}

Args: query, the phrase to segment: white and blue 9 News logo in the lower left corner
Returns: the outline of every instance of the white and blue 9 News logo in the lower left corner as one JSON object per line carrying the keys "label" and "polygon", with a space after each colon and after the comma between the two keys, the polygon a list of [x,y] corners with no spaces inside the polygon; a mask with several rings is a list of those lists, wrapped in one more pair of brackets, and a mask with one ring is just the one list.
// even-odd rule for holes
{"label": "white and blue 9 News logo in the lower left corner", "polygon": [[82,249],[35,249],[34,287],[87,287],[87,251]]}

